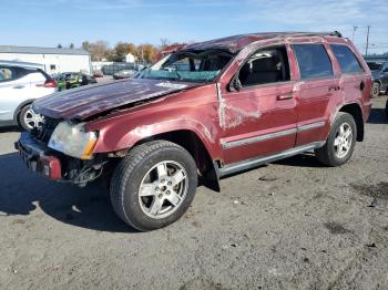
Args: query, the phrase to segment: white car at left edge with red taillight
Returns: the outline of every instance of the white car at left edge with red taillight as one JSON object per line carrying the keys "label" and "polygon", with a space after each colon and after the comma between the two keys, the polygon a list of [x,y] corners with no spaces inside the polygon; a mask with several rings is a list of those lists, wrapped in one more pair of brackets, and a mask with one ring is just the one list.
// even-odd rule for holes
{"label": "white car at left edge with red taillight", "polygon": [[57,83],[38,63],[0,61],[0,126],[31,130],[42,116],[30,110],[33,100],[57,91]]}

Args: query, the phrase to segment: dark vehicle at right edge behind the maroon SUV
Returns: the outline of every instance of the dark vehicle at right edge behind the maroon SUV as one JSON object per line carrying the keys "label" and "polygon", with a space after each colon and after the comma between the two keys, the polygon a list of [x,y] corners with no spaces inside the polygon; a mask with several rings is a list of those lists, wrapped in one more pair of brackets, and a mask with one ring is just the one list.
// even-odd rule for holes
{"label": "dark vehicle at right edge behind the maroon SUV", "polygon": [[371,71],[374,84],[371,86],[371,96],[377,97],[380,93],[388,94],[388,61],[368,62]]}

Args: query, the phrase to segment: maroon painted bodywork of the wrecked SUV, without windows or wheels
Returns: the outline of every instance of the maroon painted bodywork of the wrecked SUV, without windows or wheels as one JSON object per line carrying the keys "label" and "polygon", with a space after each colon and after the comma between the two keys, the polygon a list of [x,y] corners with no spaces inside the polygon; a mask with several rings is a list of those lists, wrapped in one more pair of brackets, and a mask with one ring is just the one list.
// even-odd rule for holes
{"label": "maroon painted bodywork of the wrecked SUV, without windows or wheels", "polygon": [[[298,66],[290,45],[293,43],[324,43],[331,59],[335,76],[298,81]],[[329,43],[350,45],[365,73],[340,74],[338,63],[328,46]],[[232,77],[251,53],[264,46],[278,44],[287,48],[292,79],[289,82],[265,84],[243,89],[239,92],[228,90]],[[346,104],[358,104],[363,111],[364,121],[369,115],[370,71],[347,39],[264,33],[191,44],[184,50],[208,48],[223,48],[238,52],[215,83],[187,84],[185,90],[169,91],[155,89],[155,84],[162,81],[125,80],[95,89],[82,89],[76,93],[69,92],[57,101],[48,99],[38,102],[37,105],[42,106],[43,114],[48,113],[51,116],[91,120],[93,115],[115,106],[154,99],[131,108],[110,112],[103,117],[88,122],[86,130],[100,133],[94,153],[121,151],[156,134],[187,130],[200,137],[213,159],[219,159],[225,164],[274,154],[296,145],[325,141],[336,113]],[[137,84],[136,87],[133,86],[134,82]],[[364,91],[359,90],[361,82],[365,84]],[[144,90],[144,85],[147,90],[140,92]],[[218,93],[217,85],[219,85]],[[337,86],[340,90],[331,89]],[[79,97],[75,96],[76,94]],[[289,94],[293,97],[284,100],[283,96]],[[71,97],[70,102],[67,97]],[[90,103],[91,101],[93,103]],[[49,106],[47,106],[48,103]],[[76,103],[81,105],[75,106]],[[253,143],[228,149],[222,146],[225,142],[295,128],[298,125],[319,121],[325,122],[324,127],[289,134],[259,144]]]}

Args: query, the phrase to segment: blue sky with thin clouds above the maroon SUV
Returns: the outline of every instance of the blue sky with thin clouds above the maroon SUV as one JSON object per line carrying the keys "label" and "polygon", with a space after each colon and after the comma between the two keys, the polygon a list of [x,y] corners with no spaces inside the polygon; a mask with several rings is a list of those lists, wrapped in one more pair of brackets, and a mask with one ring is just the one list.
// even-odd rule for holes
{"label": "blue sky with thin clouds above the maroon SUV", "polygon": [[0,0],[0,44],[63,46],[83,40],[160,44],[259,31],[333,31],[365,52],[388,51],[387,0]]}

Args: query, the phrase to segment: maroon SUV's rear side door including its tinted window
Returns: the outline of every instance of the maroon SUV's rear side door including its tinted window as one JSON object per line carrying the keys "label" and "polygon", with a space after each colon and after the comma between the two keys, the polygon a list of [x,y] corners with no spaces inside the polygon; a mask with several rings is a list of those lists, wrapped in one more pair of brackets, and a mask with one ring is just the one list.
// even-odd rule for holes
{"label": "maroon SUV's rear side door including its tinted window", "polygon": [[293,45],[299,68],[296,146],[324,141],[330,99],[340,94],[331,60],[323,43]]}

